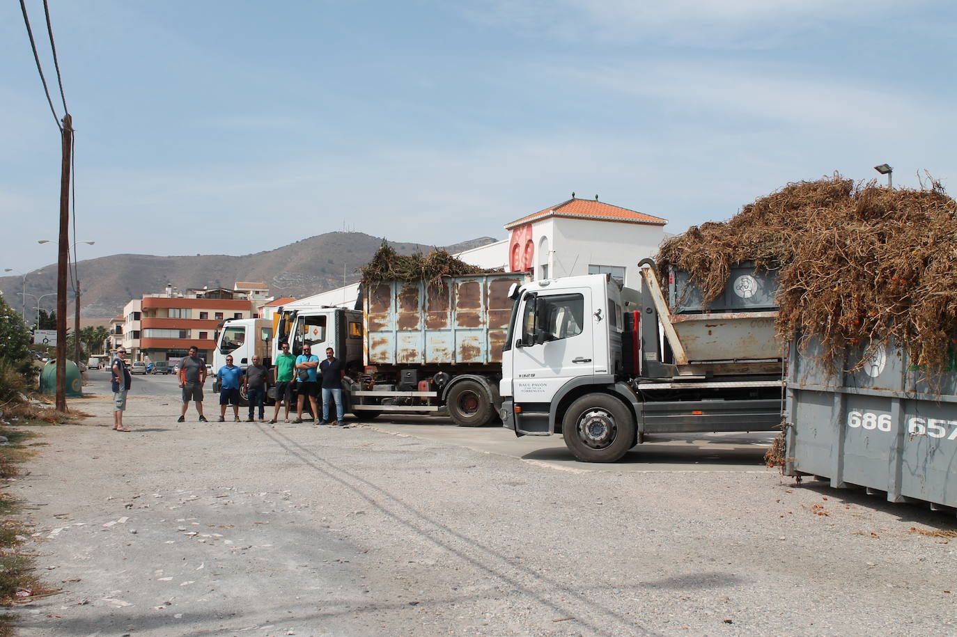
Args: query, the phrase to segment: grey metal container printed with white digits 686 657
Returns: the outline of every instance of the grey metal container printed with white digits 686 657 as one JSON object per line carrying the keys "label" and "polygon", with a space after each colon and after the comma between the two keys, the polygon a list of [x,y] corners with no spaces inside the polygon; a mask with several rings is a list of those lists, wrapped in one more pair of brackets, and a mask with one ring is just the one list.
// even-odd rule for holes
{"label": "grey metal container printed with white digits 686 657", "polygon": [[854,348],[832,370],[815,361],[816,340],[798,342],[790,347],[785,473],[885,492],[890,502],[957,507],[957,368],[928,386],[897,346]]}

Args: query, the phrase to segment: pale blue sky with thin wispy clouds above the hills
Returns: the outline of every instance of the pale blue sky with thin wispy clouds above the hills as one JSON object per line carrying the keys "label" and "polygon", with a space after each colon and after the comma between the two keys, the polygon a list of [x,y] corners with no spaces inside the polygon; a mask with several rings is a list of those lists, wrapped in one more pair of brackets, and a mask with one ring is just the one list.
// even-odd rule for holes
{"label": "pale blue sky with thin wispy clouds above the hills", "polygon": [[[42,2],[28,0],[51,87]],[[732,216],[835,170],[954,194],[937,0],[50,0],[79,258],[349,230],[443,245],[578,196]],[[46,43],[46,45],[45,45]],[[59,137],[0,6],[0,267],[55,260]],[[62,106],[57,112],[62,115]],[[883,178],[880,178],[883,179]]]}

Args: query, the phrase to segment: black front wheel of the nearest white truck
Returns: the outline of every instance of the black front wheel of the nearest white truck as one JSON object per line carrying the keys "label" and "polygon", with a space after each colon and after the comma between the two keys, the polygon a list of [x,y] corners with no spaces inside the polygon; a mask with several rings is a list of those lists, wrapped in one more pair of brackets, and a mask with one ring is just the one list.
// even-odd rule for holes
{"label": "black front wheel of the nearest white truck", "polygon": [[565,444],[582,462],[614,462],[634,445],[628,407],[608,394],[582,396],[562,419]]}

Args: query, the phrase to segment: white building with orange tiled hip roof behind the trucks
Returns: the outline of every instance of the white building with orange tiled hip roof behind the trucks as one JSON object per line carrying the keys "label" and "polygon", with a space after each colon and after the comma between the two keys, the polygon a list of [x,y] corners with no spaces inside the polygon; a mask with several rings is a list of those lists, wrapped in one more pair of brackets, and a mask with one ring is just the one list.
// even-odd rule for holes
{"label": "white building with orange tiled hip roof behind the trucks", "polygon": [[[667,220],[596,199],[571,199],[505,224],[509,238],[455,256],[480,268],[527,272],[536,280],[608,273],[640,287],[638,262],[654,256]],[[287,307],[352,308],[359,284],[321,292]]]}

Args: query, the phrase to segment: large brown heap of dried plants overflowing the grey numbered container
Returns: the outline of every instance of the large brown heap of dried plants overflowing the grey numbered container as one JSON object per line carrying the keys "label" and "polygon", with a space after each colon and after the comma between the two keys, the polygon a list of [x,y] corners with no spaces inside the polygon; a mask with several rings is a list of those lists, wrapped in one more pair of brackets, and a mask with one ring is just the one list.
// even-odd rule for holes
{"label": "large brown heap of dried plants overflowing the grey numbered container", "polygon": [[957,342],[957,202],[939,183],[888,188],[835,173],[789,184],[657,254],[662,274],[688,271],[706,303],[743,261],[779,270],[777,332],[817,337],[824,362],[893,341],[928,371],[946,370]]}

